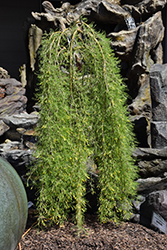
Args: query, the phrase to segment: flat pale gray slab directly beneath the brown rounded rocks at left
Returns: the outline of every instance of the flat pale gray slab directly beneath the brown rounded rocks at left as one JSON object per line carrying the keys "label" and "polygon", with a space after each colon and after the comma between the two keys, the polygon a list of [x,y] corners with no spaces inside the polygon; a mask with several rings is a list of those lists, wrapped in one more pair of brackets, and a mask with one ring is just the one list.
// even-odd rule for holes
{"label": "flat pale gray slab directly beneath the brown rounded rocks at left", "polygon": [[3,121],[11,128],[32,128],[39,121],[39,114],[37,112],[31,114],[24,112],[18,115],[5,116]]}

